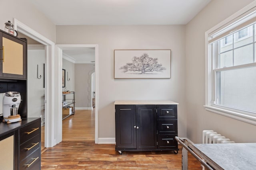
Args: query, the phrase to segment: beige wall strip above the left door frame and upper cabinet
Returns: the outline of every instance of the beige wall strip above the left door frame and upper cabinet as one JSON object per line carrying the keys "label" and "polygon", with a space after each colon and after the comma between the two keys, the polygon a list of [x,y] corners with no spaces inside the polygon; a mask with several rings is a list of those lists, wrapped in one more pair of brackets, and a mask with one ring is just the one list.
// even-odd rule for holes
{"label": "beige wall strip above the left door frame and upper cabinet", "polygon": [[44,37],[56,42],[56,26],[36,10],[29,0],[1,0],[0,2],[0,29],[4,30],[4,23],[13,18],[34,29]]}

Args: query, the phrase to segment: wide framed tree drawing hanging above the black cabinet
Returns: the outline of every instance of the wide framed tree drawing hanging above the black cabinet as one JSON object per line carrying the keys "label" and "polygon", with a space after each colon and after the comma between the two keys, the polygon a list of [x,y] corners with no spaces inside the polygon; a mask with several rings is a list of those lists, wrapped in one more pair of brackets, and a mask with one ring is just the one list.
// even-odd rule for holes
{"label": "wide framed tree drawing hanging above the black cabinet", "polygon": [[171,50],[114,50],[114,78],[171,78]]}

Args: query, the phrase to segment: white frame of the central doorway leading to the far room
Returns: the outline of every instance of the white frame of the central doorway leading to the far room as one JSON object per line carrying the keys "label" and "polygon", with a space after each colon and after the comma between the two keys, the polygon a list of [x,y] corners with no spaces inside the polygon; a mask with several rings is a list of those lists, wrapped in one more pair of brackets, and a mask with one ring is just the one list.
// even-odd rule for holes
{"label": "white frame of the central doorway leading to the far room", "polygon": [[62,141],[62,50],[95,48],[95,143],[98,143],[98,44],[56,44],[56,142]]}

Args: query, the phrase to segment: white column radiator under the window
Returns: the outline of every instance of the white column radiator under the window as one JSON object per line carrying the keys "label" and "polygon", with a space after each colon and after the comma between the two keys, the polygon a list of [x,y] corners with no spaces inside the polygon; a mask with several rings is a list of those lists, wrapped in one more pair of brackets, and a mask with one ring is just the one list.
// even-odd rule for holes
{"label": "white column radiator under the window", "polygon": [[221,134],[214,132],[213,130],[203,130],[202,143],[235,143],[230,139],[222,136]]}

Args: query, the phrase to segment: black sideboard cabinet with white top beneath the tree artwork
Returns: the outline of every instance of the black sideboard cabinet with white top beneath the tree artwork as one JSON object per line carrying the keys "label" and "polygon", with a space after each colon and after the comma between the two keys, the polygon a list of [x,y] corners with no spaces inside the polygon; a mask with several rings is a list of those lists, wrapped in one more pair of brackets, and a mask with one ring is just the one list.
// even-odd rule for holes
{"label": "black sideboard cabinet with white top beneath the tree artwork", "polygon": [[[156,104],[154,104],[156,103]],[[116,101],[116,150],[178,152],[177,103]]]}

